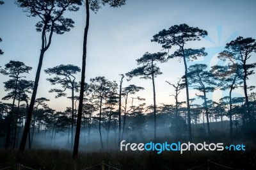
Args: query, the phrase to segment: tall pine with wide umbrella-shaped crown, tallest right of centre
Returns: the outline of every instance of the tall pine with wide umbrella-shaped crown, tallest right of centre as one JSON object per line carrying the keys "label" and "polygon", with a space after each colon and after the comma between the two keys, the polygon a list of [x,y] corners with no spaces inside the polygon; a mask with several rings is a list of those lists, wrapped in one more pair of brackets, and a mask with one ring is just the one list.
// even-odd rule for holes
{"label": "tall pine with wide umbrella-shaped crown, tallest right of centre", "polygon": [[188,128],[189,128],[189,141],[192,141],[191,134],[191,118],[190,118],[190,106],[189,106],[189,91],[188,91],[188,79],[187,79],[187,63],[186,59],[196,59],[198,56],[205,56],[204,49],[185,49],[185,44],[190,41],[200,40],[201,37],[207,35],[207,31],[199,29],[198,27],[190,27],[187,24],[180,24],[170,27],[168,30],[163,29],[157,35],[153,36],[152,42],[158,42],[162,44],[163,49],[171,49],[173,46],[178,46],[174,54],[168,58],[183,58],[185,66],[185,83],[186,83],[186,95],[188,105]]}

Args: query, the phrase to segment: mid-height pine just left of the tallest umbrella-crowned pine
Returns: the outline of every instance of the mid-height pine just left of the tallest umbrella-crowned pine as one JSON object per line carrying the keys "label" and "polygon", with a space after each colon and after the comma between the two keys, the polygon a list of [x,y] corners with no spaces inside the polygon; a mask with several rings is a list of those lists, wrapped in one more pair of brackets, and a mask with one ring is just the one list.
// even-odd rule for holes
{"label": "mid-height pine just left of the tallest umbrella-crowned pine", "polygon": [[157,52],[154,54],[150,54],[146,52],[141,58],[136,59],[138,65],[138,68],[135,68],[131,72],[126,73],[125,75],[129,77],[129,80],[132,79],[132,77],[138,77],[140,76],[140,79],[152,79],[153,84],[153,96],[154,96],[154,142],[156,143],[156,89],[155,89],[155,80],[154,78],[157,75],[162,74],[160,72],[160,68],[156,66],[156,61],[159,61],[161,63],[165,62],[165,56],[166,52]]}

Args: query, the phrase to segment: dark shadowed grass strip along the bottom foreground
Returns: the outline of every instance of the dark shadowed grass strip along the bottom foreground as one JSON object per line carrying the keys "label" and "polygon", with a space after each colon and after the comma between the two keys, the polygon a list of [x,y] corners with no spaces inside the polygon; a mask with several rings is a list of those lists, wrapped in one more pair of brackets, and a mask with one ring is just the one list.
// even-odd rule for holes
{"label": "dark shadowed grass strip along the bottom foreground", "polygon": [[[80,153],[72,160],[72,152],[65,150],[15,150],[0,151],[0,169],[15,164],[22,164],[33,169],[86,169],[101,162],[117,169],[256,169],[255,147],[246,151],[163,151],[161,154],[147,151],[102,151]],[[208,161],[208,163],[207,163]],[[200,166],[202,165],[202,166]],[[221,165],[221,166],[220,166]],[[12,167],[10,169],[17,169]],[[102,169],[101,166],[92,169]],[[105,169],[113,169],[105,166]]]}

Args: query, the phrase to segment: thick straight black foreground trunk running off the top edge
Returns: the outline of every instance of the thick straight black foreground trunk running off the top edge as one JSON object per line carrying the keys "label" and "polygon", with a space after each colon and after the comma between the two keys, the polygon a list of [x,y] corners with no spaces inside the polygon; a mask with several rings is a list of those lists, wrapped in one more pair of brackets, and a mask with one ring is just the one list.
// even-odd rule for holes
{"label": "thick straight black foreground trunk running off the top edge", "polygon": [[85,4],[86,5],[86,26],[84,28],[82,73],[81,73],[80,95],[79,95],[79,105],[78,105],[78,112],[77,112],[76,135],[75,135],[75,141],[74,141],[73,158],[76,158],[78,155],[81,119],[82,119],[82,113],[83,113],[84,81],[85,81],[86,52],[87,52],[86,47],[87,47],[87,35],[88,35],[89,18],[90,18],[89,0],[86,0],[85,3],[86,3]]}

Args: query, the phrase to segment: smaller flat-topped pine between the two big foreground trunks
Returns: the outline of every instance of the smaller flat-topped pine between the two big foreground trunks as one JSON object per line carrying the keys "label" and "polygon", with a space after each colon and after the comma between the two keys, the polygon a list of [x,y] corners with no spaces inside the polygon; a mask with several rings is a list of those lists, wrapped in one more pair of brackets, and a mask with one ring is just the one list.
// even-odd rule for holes
{"label": "smaller flat-topped pine between the two big foreground trunks", "polygon": [[61,84],[63,89],[51,89],[49,92],[56,92],[58,97],[66,96],[64,93],[66,89],[71,89],[72,91],[72,118],[71,118],[71,146],[74,144],[74,91],[78,91],[78,84],[76,82],[76,73],[81,72],[81,69],[78,66],[74,65],[59,65],[54,66],[53,68],[47,68],[44,70],[45,73],[49,75],[56,75],[53,78],[47,78],[47,81],[51,82],[52,85]]}

